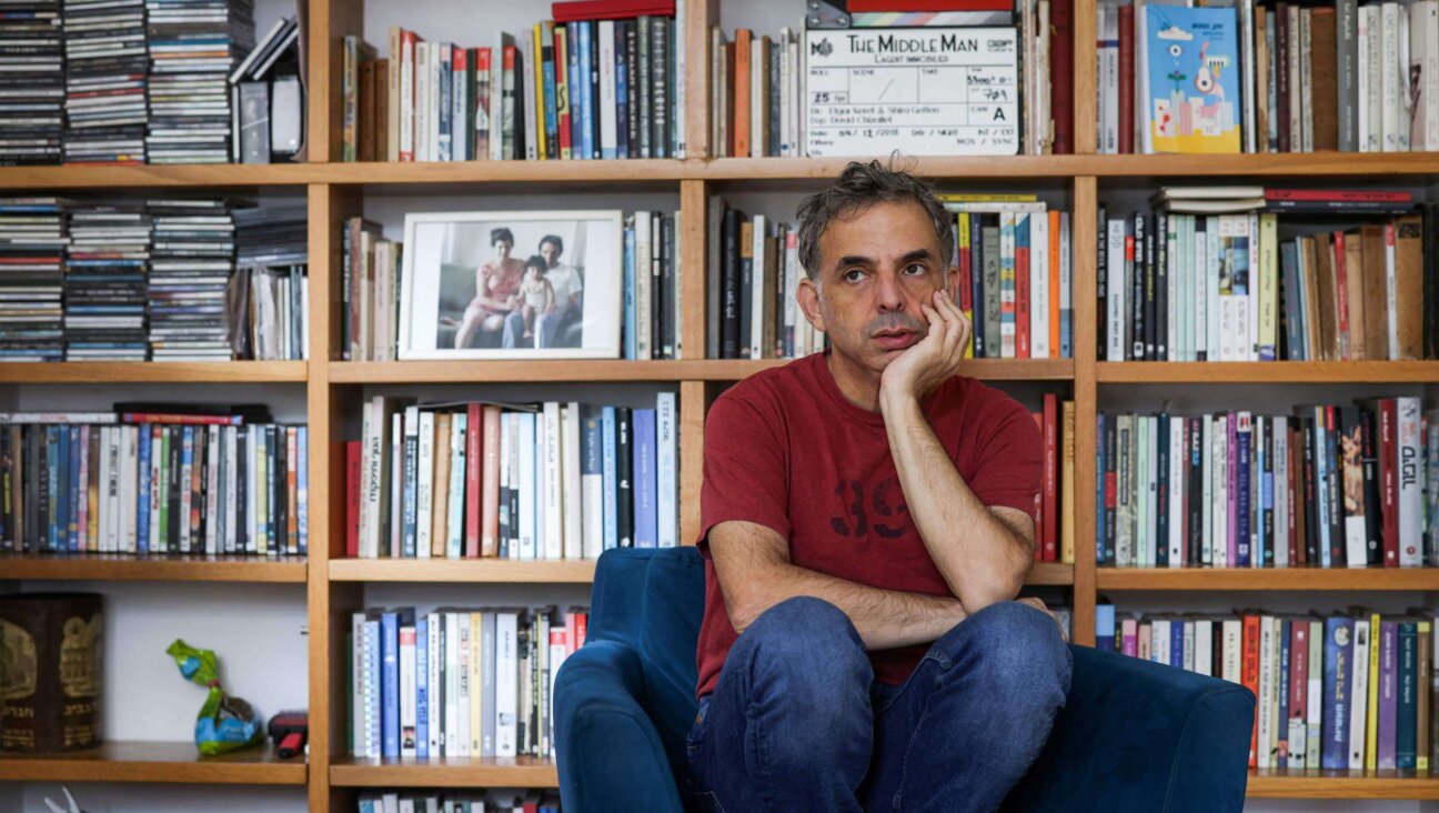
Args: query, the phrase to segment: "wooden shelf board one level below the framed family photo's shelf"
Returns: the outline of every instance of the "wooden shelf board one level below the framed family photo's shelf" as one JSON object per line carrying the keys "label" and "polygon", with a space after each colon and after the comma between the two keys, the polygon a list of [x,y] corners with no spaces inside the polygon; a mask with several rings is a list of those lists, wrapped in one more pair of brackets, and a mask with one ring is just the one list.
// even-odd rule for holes
{"label": "wooden shelf board one level below the framed family photo's shelf", "polygon": [[331,581],[459,581],[469,584],[590,584],[594,560],[332,558]]}

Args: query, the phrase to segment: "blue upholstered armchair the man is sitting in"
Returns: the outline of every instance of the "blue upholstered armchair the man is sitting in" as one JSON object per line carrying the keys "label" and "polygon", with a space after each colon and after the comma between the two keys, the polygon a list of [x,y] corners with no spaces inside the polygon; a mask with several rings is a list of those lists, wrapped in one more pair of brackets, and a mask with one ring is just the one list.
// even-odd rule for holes
{"label": "blue upholstered armchair the man is sitting in", "polygon": [[[606,551],[589,640],[555,686],[566,813],[679,813],[704,614],[695,548]],[[1006,810],[1216,813],[1245,801],[1253,695],[1073,646],[1069,702]]]}

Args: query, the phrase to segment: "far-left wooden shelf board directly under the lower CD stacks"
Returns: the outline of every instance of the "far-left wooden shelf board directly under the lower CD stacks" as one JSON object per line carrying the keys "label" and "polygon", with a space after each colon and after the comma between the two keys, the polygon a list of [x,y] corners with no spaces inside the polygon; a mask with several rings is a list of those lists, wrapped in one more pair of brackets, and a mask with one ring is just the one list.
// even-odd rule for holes
{"label": "far-left wooden shelf board directly under the lower CD stacks", "polygon": [[0,363],[0,384],[304,383],[305,361]]}

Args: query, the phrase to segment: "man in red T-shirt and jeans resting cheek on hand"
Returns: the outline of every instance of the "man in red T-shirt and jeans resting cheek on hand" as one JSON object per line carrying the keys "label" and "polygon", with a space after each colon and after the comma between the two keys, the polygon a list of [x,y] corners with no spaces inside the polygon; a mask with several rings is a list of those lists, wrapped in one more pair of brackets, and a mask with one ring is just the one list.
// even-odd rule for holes
{"label": "man in red T-shirt and jeans resting cheek on hand", "polygon": [[1042,439],[957,376],[951,216],[849,164],[800,207],[799,304],[832,350],[751,376],[705,424],[701,809],[993,810],[1071,659],[1033,561]]}

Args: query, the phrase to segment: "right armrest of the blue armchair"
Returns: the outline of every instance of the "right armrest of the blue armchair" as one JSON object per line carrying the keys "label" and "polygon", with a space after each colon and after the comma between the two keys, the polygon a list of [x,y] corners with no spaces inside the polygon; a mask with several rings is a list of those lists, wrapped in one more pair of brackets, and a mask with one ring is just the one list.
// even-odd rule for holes
{"label": "right armrest of the blue armchair", "polygon": [[1240,810],[1253,694],[1137,658],[1071,646],[1073,682],[1006,810]]}

